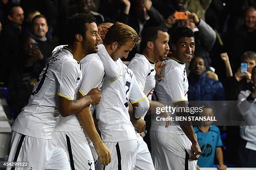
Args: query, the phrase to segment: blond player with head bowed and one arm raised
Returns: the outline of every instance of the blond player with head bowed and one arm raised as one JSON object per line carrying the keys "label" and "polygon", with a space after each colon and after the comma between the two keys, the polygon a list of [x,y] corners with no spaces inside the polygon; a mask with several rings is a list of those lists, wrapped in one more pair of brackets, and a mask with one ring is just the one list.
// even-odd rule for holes
{"label": "blond player with head bowed and one arm raised", "polygon": [[96,170],[133,170],[135,166],[138,142],[130,121],[128,98],[132,104],[138,103],[133,115],[136,119],[146,114],[149,102],[139,89],[133,71],[120,58],[127,58],[129,51],[140,41],[140,35],[133,28],[117,22],[108,29],[105,47],[99,45],[98,55],[106,76],[101,87],[102,100],[96,106],[96,118],[112,160],[107,166],[97,163]]}

